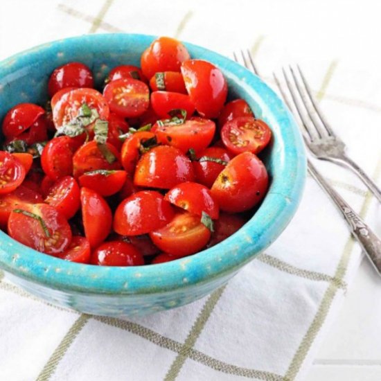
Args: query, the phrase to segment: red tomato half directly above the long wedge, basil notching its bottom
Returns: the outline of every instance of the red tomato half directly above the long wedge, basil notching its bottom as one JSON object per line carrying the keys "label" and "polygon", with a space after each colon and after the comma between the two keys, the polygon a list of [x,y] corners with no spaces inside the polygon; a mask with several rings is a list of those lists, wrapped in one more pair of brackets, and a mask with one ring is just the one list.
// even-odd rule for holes
{"label": "red tomato half directly above the long wedge, basil notching its bottom", "polygon": [[170,91],[154,91],[151,94],[151,105],[161,118],[170,118],[168,112],[172,109],[184,109],[188,117],[195,112],[195,105],[189,96]]}

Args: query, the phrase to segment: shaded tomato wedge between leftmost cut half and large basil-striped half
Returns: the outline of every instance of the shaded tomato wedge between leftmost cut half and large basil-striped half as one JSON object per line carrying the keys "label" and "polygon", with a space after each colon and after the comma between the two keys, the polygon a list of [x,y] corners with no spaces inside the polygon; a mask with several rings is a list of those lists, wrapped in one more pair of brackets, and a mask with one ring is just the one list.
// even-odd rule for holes
{"label": "shaded tomato wedge between leftmost cut half and large basil-striped half", "polygon": [[39,204],[44,202],[39,193],[24,184],[6,195],[0,195],[0,227],[6,229],[10,212],[22,209],[24,204]]}

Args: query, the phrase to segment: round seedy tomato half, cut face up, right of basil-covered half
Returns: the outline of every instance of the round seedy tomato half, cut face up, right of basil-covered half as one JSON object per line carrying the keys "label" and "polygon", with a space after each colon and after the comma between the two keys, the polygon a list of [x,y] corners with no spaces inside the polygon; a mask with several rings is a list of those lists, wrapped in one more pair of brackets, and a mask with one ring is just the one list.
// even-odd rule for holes
{"label": "round seedy tomato half, cut face up, right of basil-covered half", "polygon": [[103,90],[109,108],[123,118],[143,115],[150,105],[150,89],[140,80],[113,80]]}

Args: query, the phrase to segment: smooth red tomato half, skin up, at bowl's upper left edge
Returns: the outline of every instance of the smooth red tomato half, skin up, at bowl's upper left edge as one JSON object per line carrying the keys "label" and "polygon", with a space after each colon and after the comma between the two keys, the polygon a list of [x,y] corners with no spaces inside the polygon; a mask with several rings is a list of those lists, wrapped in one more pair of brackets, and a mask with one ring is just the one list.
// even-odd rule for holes
{"label": "smooth red tomato half, skin up, at bowl's upper left edge", "polygon": [[33,103],[19,103],[12,107],[3,120],[3,134],[7,138],[19,136],[37,121],[45,110]]}

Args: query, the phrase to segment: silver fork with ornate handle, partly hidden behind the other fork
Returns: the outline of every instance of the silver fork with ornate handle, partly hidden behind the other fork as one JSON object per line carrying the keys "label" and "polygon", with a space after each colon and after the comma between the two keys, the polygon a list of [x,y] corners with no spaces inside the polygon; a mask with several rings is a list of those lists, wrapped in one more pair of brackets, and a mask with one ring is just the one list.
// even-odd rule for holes
{"label": "silver fork with ornate handle, partly hidden behind the other fork", "polygon": [[[251,57],[251,54],[249,51],[244,53],[244,51],[240,51],[240,55],[242,56],[242,61],[244,66],[249,69],[250,71],[253,71],[258,76],[258,70],[256,69],[256,66],[254,64],[254,60]],[[233,54],[234,60],[236,62],[240,63],[240,60],[238,60],[238,55],[236,53]],[[285,89],[282,87],[281,82],[278,80],[278,78],[274,74],[274,78],[276,81],[276,85],[278,86],[279,91],[281,92],[281,96],[283,97],[283,100],[285,101],[287,107],[292,110],[292,107],[290,107],[290,98],[286,95]],[[335,202],[337,208],[342,213],[344,219],[348,223],[348,227],[351,229],[351,233],[359,242],[360,246],[364,250],[364,252],[367,254],[369,259],[371,260],[371,263],[375,267],[378,274],[381,276],[381,240],[378,238],[378,236],[373,233],[373,231],[368,227],[368,225],[362,220],[360,215],[357,215],[355,211],[349,206],[349,204],[342,198],[342,196],[339,195],[339,193],[336,192],[328,184],[326,179],[320,174],[320,172],[315,168],[309,159],[307,159],[308,164],[308,172],[310,172],[310,175],[317,181],[317,183],[326,190],[328,195],[330,196],[331,200]]]}

